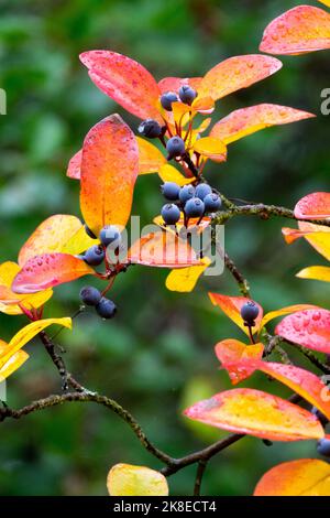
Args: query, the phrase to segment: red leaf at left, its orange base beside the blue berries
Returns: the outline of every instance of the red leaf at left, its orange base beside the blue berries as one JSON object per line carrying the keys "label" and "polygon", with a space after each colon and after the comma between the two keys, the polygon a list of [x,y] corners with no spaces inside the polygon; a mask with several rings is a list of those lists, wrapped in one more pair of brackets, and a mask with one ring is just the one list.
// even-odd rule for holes
{"label": "red leaf at left, its orange base beside the blue berries", "polygon": [[16,293],[36,293],[88,274],[95,274],[95,271],[70,253],[43,253],[24,265],[13,280],[12,290]]}

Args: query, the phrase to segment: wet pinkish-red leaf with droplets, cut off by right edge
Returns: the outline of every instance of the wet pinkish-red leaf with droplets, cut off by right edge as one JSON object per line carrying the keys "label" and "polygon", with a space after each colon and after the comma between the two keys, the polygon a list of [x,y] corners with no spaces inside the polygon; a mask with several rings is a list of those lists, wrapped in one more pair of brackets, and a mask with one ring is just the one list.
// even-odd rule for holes
{"label": "wet pinkish-red leaf with droplets, cut off by right edge", "polygon": [[330,311],[305,310],[283,319],[275,333],[289,342],[330,354]]}

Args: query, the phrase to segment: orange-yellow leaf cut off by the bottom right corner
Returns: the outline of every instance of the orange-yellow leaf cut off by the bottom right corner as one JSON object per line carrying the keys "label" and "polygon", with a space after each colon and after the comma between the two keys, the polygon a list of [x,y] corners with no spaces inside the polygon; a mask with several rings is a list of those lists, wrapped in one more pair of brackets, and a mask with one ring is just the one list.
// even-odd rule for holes
{"label": "orange-yellow leaf cut off by the bottom right corner", "polygon": [[330,465],[318,458],[278,464],[262,476],[254,496],[330,496]]}

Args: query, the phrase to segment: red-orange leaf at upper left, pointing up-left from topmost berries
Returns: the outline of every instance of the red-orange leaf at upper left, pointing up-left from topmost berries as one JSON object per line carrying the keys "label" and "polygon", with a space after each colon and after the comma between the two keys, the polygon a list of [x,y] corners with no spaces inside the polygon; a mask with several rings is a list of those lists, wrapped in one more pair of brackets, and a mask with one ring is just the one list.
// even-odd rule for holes
{"label": "red-orange leaf at upper left, pointing up-left from topmost berries", "polygon": [[150,117],[162,122],[157,109],[161,90],[144,66],[110,51],[84,52],[80,61],[103,94],[141,119]]}

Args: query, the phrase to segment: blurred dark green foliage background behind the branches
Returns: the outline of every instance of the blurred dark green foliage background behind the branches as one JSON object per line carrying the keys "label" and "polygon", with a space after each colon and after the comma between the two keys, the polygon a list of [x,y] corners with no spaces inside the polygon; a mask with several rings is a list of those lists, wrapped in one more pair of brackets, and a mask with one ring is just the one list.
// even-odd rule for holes
{"label": "blurred dark green foliage background behind the branches", "polygon": [[[265,25],[299,2],[278,0],[2,0],[0,87],[8,115],[0,119],[0,259],[15,260],[30,233],[47,216],[79,215],[78,183],[66,179],[69,158],[88,129],[118,111],[139,121],[102,95],[78,61],[81,51],[111,48],[143,63],[157,78],[202,75],[223,58],[257,52]],[[326,9],[326,8],[324,8]],[[224,165],[206,175],[227,196],[293,207],[302,195],[327,190],[330,170],[329,118],[320,114],[320,91],[330,86],[329,53],[283,58],[275,76],[218,102],[213,120],[232,109],[271,101],[314,111],[317,119],[268,129],[230,148]],[[156,175],[139,179],[133,214],[150,223],[163,204]],[[327,285],[294,277],[322,265],[307,242],[286,246],[282,226],[290,222],[235,218],[226,246],[249,278],[266,311],[309,302],[329,307]],[[213,345],[240,331],[208,300],[207,291],[237,295],[228,273],[199,282],[194,293],[166,291],[167,272],[136,267],[117,281],[119,312],[103,322],[87,312],[64,331],[65,359],[78,379],[125,406],[157,446],[182,456],[224,433],[196,425],[182,409],[230,387]],[[84,281],[63,285],[46,315],[72,315]],[[1,338],[24,325],[1,315]],[[8,401],[21,406],[58,390],[53,365],[41,345],[10,378]],[[294,357],[294,352],[288,350]],[[266,377],[245,385],[287,396]],[[244,439],[213,458],[206,495],[250,495],[260,476],[282,461],[316,456],[315,443],[266,447]],[[92,404],[67,404],[0,427],[1,495],[106,495],[106,476],[118,462],[160,464],[114,414]],[[195,467],[170,477],[173,495],[189,495]]]}

